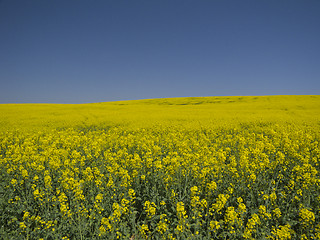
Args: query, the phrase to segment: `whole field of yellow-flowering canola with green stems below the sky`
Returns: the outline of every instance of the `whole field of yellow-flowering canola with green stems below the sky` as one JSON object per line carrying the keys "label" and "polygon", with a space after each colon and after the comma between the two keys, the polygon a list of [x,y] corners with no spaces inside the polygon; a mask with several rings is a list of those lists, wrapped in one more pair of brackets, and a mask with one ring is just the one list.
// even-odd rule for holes
{"label": "whole field of yellow-flowering canola with green stems below the sky", "polygon": [[0,111],[3,239],[320,239],[320,96]]}

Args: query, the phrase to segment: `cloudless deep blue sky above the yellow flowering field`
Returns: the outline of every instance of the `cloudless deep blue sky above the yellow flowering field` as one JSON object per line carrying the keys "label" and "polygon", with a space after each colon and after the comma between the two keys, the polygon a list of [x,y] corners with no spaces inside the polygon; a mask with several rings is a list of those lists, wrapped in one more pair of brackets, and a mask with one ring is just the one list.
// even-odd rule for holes
{"label": "cloudless deep blue sky above the yellow flowering field", "polygon": [[0,103],[320,94],[319,0],[0,0]]}

